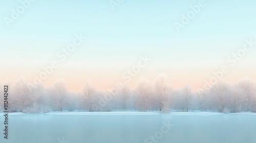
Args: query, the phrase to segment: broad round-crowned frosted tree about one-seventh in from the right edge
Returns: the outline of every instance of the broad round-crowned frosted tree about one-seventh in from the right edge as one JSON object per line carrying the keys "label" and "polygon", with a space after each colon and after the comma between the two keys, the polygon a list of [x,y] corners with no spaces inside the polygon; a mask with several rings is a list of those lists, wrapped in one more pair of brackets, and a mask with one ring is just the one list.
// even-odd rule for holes
{"label": "broad round-crowned frosted tree about one-seventh in from the right edge", "polygon": [[219,112],[223,112],[228,103],[228,89],[229,85],[224,81],[218,81],[210,89],[212,102],[214,102]]}

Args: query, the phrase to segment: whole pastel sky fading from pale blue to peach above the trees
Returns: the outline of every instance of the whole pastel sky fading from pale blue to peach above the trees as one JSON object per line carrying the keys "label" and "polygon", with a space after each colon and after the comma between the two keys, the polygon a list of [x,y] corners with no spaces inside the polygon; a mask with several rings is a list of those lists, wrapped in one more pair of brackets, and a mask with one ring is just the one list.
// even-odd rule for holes
{"label": "whole pastel sky fading from pale blue to peach above the trees", "polygon": [[[109,1],[36,1],[8,28],[5,17],[20,1],[0,2],[0,81],[25,77],[33,83],[42,66],[53,60],[59,66],[43,80],[51,86],[64,79],[71,90],[80,90],[88,79],[100,89],[125,82],[122,74],[137,65],[140,56],[152,60],[140,69],[129,85],[141,76],[153,81],[161,73],[170,85],[188,83],[202,88],[212,71],[229,69],[223,79],[256,80],[256,44],[236,64],[227,58],[246,43],[256,41],[256,1],[205,1],[184,28],[174,22],[199,1],[133,0],[111,8]],[[57,53],[72,43],[76,34],[87,39],[61,61]]]}

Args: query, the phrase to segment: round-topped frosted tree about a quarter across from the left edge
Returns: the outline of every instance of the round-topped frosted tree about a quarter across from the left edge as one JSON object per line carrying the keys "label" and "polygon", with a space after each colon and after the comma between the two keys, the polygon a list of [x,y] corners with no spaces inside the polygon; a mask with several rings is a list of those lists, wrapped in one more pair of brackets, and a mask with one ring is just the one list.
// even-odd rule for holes
{"label": "round-topped frosted tree about a quarter across from the left edge", "polygon": [[62,111],[64,99],[67,94],[67,87],[63,80],[57,80],[52,85],[52,101],[57,111]]}

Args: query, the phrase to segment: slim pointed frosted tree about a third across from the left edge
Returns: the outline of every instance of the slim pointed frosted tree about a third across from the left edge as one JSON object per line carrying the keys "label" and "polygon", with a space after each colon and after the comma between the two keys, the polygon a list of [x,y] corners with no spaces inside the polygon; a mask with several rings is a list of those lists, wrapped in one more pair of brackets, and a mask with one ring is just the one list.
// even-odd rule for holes
{"label": "slim pointed frosted tree about a third across from the left edge", "polygon": [[82,93],[86,107],[89,108],[89,111],[93,111],[93,94],[95,93],[95,89],[92,87],[90,80],[82,85]]}

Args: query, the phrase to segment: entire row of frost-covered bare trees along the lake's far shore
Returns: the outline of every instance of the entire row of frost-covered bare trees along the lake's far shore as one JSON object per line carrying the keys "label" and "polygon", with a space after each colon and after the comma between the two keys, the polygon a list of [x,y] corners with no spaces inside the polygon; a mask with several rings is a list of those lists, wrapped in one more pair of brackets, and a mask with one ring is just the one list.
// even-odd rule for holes
{"label": "entire row of frost-covered bare trees along the lake's far shore", "polygon": [[[0,85],[0,111],[4,111],[3,83]],[[86,81],[80,91],[68,91],[65,81],[51,87],[31,87],[24,78],[9,84],[8,106],[11,112],[45,113],[51,111],[212,111],[256,112],[256,86],[250,79],[236,83],[218,81],[207,90],[192,91],[189,85],[174,89],[165,74],[152,82],[141,78],[135,89],[122,84],[102,92]]]}

